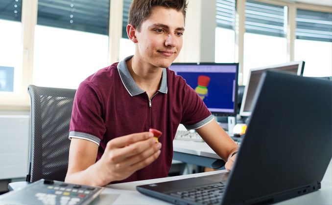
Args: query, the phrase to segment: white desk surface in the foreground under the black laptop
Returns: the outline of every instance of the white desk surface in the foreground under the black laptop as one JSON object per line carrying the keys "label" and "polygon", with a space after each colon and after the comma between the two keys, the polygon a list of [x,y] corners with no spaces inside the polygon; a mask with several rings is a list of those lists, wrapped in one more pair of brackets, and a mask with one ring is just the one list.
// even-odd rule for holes
{"label": "white desk surface in the foreground under the black laptop", "polygon": [[[213,172],[205,172],[198,174],[190,174],[190,175],[182,175],[176,177],[167,177],[160,178],[154,180],[144,180],[144,181],[136,181],[129,183],[121,183],[121,184],[112,184],[108,185],[99,198],[94,201],[93,204],[116,204],[116,205],[164,205],[168,204],[164,201],[154,199],[148,196],[145,196],[138,191],[136,191],[137,185],[142,184],[151,184],[151,183],[159,183],[172,181],[177,179],[186,179],[190,177],[196,176],[204,176],[215,173],[225,172],[225,170],[218,170]],[[280,205],[331,205],[332,204],[332,163],[330,162],[329,168],[325,173],[323,181],[321,183],[321,189],[300,197],[296,197],[290,200],[283,201],[278,203]]]}

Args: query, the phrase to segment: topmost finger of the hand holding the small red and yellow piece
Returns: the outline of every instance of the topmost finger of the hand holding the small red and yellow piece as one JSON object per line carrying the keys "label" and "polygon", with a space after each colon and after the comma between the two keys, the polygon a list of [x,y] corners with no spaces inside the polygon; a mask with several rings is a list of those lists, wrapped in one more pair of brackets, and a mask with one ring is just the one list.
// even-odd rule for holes
{"label": "topmost finger of the hand holding the small red and yellow piece", "polygon": [[132,143],[137,143],[140,141],[144,141],[153,137],[153,134],[150,132],[141,132],[141,133],[134,133],[130,135],[125,135],[122,137],[117,137],[110,142],[107,143],[107,146],[110,148],[121,148],[127,146]]}

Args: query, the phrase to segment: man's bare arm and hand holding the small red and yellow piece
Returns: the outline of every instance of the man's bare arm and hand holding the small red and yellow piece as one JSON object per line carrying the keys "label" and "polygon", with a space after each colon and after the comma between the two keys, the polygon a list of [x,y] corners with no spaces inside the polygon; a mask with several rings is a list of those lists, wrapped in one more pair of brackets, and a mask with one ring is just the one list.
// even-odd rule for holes
{"label": "man's bare arm and hand holding the small red and yellow piece", "polygon": [[95,162],[98,145],[73,138],[65,182],[102,186],[126,179],[155,161],[160,148],[152,133],[135,133],[109,141],[101,159]]}

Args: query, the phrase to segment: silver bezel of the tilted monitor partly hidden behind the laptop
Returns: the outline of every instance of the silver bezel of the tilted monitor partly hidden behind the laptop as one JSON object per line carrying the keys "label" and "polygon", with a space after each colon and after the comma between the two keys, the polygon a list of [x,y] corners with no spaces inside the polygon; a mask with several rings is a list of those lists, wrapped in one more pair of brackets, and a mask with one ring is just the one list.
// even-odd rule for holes
{"label": "silver bezel of the tilted monitor partly hidden behind the laptop", "polygon": [[295,65],[295,64],[298,65],[296,75],[302,76],[303,72],[304,72],[304,66],[305,66],[305,62],[304,61],[286,62],[286,63],[281,63],[281,64],[268,65],[268,66],[264,66],[264,67],[250,69],[249,70],[249,75],[248,75],[248,81],[247,81],[247,84],[245,85],[244,91],[243,91],[243,97],[242,97],[242,102],[241,102],[241,107],[240,107],[239,115],[243,116],[243,117],[249,117],[251,115],[251,112],[252,112],[252,111],[244,111],[243,110],[244,109],[245,100],[247,98],[247,91],[248,91],[249,82],[250,82],[250,76],[251,76],[251,72],[252,71],[267,70],[267,69],[273,69],[273,68],[278,68],[278,67],[285,67],[285,66]]}

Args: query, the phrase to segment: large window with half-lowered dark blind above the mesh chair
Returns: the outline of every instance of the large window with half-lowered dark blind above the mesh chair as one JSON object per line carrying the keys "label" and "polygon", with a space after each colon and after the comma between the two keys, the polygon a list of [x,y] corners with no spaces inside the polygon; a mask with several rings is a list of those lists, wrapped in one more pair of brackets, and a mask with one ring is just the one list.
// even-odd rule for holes
{"label": "large window with half-lowered dark blind above the mesh chair", "polygon": [[33,83],[77,89],[108,65],[109,0],[38,0]]}

